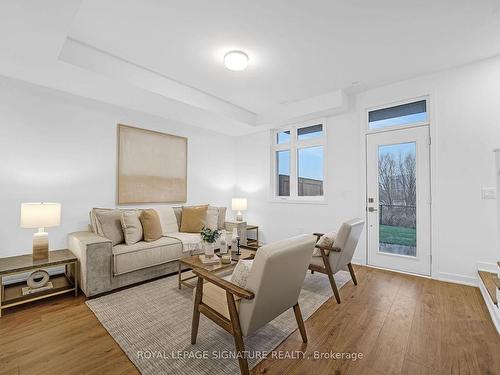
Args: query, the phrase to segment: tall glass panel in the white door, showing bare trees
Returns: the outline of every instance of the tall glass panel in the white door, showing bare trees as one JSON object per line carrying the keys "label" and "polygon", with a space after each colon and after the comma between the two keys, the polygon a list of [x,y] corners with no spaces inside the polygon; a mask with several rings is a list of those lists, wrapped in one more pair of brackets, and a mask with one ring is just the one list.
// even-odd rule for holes
{"label": "tall glass panel in the white door, showing bare trees", "polygon": [[379,251],[417,255],[416,144],[378,148]]}

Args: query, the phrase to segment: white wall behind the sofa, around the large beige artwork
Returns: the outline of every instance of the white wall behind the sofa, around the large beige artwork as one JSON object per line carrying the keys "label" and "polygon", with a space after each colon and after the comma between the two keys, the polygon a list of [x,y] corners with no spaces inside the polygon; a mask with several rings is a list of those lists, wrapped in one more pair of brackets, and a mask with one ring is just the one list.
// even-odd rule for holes
{"label": "white wall behind the sofa, around the large beige artwork", "polygon": [[62,225],[48,229],[53,249],[87,228],[92,207],[115,206],[117,123],[188,137],[188,204],[230,204],[232,138],[0,78],[0,257],[31,252],[21,202],[62,203]]}

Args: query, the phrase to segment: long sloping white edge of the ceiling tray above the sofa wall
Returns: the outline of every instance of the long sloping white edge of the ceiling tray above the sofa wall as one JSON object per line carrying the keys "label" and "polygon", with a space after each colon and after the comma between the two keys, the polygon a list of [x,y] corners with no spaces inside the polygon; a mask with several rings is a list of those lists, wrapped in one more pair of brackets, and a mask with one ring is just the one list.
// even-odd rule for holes
{"label": "long sloping white edge of the ceiling tray above the sofa wall", "polygon": [[147,91],[231,118],[245,125],[256,124],[257,116],[251,111],[71,37],[66,38],[59,60],[127,81]]}

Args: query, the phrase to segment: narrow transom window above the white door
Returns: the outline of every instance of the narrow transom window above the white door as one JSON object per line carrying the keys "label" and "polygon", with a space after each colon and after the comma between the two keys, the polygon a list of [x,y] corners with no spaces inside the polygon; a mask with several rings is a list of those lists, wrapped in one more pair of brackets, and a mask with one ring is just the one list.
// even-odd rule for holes
{"label": "narrow transom window above the white door", "polygon": [[408,126],[427,121],[427,100],[425,99],[368,112],[370,130]]}

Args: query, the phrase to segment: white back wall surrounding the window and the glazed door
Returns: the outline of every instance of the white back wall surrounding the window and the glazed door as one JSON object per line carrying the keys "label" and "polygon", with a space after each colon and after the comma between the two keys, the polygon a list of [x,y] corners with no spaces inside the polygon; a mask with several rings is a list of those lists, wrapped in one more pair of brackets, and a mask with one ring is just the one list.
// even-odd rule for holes
{"label": "white back wall surrounding the window and the glazed door", "polygon": [[[248,220],[262,226],[264,240],[333,230],[364,216],[364,112],[422,95],[431,96],[432,276],[474,284],[478,262],[500,259],[496,202],[481,199],[481,188],[496,184],[500,58],[364,92],[350,113],[329,118],[327,205],[271,203],[269,134],[241,138],[238,192],[249,198]],[[364,242],[355,258],[366,262]]]}

